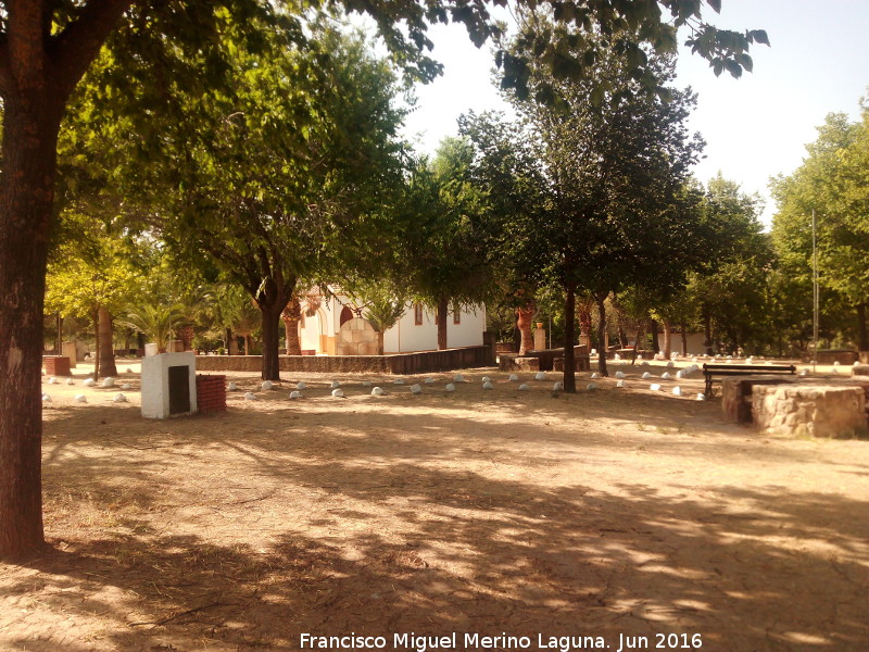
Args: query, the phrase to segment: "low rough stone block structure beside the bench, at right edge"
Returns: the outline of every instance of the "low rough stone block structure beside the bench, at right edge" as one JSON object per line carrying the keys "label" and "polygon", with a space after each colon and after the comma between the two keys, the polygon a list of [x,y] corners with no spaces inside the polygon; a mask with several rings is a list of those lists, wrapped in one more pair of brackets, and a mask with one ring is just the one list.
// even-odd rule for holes
{"label": "low rough stone block structure beside the bench, at right edge", "polygon": [[853,437],[866,431],[866,391],[844,386],[755,386],[752,413],[759,428],[786,435]]}

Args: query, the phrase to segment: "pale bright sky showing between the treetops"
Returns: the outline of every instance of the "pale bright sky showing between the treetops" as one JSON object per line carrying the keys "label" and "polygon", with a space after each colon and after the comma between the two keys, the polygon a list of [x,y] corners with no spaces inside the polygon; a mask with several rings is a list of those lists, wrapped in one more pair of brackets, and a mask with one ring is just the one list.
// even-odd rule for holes
{"label": "pale bright sky showing between the treetops", "polygon": [[[676,80],[698,93],[689,124],[707,145],[696,177],[705,183],[720,171],[744,192],[759,193],[769,225],[776,209],[769,178],[799,166],[828,113],[858,120],[859,99],[869,95],[869,0],[722,0],[721,13],[706,7],[704,18],[769,35],[771,47],[753,46],[754,72],[741,79],[716,77],[706,61],[684,50]],[[430,38],[444,75],[417,87],[406,134],[419,151],[433,153],[443,137],[457,133],[462,113],[506,105],[490,82],[488,47],[475,48],[461,26],[434,27]]]}

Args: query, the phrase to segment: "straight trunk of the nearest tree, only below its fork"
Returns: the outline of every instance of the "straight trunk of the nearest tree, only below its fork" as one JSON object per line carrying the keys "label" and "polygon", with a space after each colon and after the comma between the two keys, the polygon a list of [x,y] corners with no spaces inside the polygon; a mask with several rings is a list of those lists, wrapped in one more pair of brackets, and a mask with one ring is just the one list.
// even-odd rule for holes
{"label": "straight trunk of the nearest tree, only below its fork", "polygon": [[0,180],[0,559],[45,544],[42,306],[60,126],[41,97],[10,95]]}

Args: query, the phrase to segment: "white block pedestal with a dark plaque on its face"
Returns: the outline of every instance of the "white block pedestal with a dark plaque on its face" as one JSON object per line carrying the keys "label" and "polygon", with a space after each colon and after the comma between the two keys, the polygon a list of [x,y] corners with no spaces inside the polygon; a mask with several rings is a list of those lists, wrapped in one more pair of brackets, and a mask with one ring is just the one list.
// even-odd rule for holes
{"label": "white block pedestal with a dark plaque on its face", "polygon": [[161,353],[142,360],[142,416],[168,418],[196,414],[193,353]]}

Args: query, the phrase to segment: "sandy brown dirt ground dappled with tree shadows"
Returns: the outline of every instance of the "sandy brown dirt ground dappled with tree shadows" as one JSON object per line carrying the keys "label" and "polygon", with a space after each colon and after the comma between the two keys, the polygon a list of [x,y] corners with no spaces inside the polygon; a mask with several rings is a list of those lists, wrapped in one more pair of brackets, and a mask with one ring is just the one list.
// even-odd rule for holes
{"label": "sandy brown dirt ground dappled with tree shadows", "polygon": [[128,391],[42,386],[52,550],[0,565],[1,650],[869,650],[867,440],[723,424],[650,367],[572,396],[230,374],[226,413],[147,421],[128,364]]}

